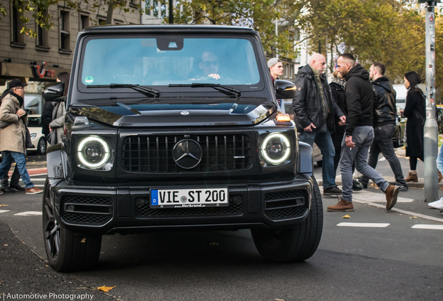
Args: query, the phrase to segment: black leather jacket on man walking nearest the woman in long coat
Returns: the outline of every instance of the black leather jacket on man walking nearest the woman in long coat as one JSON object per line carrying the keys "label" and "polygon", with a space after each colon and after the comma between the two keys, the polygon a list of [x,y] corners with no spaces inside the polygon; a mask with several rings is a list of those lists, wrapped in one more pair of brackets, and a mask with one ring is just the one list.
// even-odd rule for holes
{"label": "black leather jacket on man walking nearest the woman in long coat", "polygon": [[396,91],[387,77],[372,82],[374,91],[374,126],[396,123]]}

